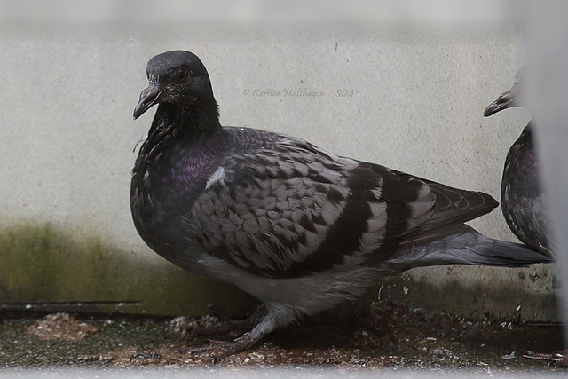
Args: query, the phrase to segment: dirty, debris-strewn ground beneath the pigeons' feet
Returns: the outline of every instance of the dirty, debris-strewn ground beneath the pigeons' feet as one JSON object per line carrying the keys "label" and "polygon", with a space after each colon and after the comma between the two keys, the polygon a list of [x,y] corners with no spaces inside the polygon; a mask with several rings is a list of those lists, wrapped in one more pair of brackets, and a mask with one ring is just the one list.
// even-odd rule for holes
{"label": "dirty, debris-strewn ground beneath the pigeons' feet", "polygon": [[[85,314],[14,319],[13,315],[4,315],[0,322],[0,365],[18,370],[126,367],[168,372],[199,369],[203,373],[247,367],[359,374],[381,369],[568,375],[568,368],[556,362],[523,357],[530,351],[562,351],[559,326],[471,321],[384,301],[372,304],[352,320],[305,320],[217,365],[211,357],[219,350],[201,354],[184,351],[207,346],[209,339],[228,338],[185,336],[179,332],[184,322],[194,325],[198,321]],[[217,320],[205,317],[199,322]]]}

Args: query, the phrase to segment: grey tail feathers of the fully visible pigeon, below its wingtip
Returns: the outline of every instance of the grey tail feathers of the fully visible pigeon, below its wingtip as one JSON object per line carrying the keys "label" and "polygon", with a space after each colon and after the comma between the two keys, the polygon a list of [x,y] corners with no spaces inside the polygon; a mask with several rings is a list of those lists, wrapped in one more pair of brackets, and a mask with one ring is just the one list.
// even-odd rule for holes
{"label": "grey tail feathers of the fully visible pigeon, below its wingtip", "polygon": [[463,225],[455,233],[421,246],[407,244],[391,257],[389,266],[395,272],[430,265],[491,265],[522,267],[554,262],[525,245],[486,238],[475,229]]}

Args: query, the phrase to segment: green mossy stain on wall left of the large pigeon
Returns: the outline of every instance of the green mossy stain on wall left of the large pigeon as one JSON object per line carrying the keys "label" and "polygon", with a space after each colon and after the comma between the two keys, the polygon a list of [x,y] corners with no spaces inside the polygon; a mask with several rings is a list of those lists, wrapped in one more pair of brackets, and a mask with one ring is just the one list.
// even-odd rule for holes
{"label": "green mossy stain on wall left of the large pigeon", "polygon": [[[225,286],[51,224],[0,227],[0,304],[88,304],[91,312],[242,314],[255,303]],[[51,307],[53,308],[53,306]],[[55,307],[57,309],[57,307]]]}

